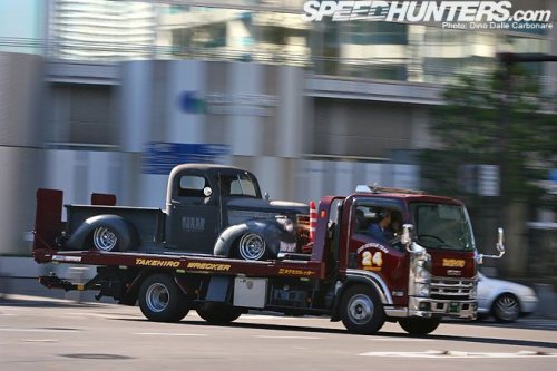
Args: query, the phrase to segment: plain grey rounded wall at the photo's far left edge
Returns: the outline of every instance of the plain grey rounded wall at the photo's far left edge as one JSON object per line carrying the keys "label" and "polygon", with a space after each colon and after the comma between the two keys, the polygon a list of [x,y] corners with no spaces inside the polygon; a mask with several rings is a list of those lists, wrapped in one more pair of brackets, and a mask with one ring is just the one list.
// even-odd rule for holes
{"label": "plain grey rounded wall at the photo's far left edge", "polygon": [[40,57],[0,52],[0,254],[29,252],[41,175]]}

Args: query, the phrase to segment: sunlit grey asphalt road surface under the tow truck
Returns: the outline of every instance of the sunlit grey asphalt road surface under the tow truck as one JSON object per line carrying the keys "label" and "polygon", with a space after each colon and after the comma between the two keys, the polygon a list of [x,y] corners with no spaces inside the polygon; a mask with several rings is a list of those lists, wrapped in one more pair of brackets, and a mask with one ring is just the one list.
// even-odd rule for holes
{"label": "sunlit grey asphalt road surface under the tow truck", "polygon": [[0,302],[0,370],[555,370],[557,321],[448,322],[426,338],[387,323],[349,334],[326,318],[190,312],[155,323],[138,307],[11,296]]}

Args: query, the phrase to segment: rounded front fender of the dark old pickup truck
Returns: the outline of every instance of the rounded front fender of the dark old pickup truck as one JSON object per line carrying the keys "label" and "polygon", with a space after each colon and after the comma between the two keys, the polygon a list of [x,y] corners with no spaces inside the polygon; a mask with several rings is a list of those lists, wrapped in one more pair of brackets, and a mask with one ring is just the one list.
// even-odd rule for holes
{"label": "rounded front fender of the dark old pickup truck", "polygon": [[285,226],[283,221],[275,218],[248,221],[224,230],[215,243],[214,255],[231,256],[236,241],[245,233],[253,232],[263,237],[268,252],[276,256],[281,250],[281,242],[295,244],[295,234]]}

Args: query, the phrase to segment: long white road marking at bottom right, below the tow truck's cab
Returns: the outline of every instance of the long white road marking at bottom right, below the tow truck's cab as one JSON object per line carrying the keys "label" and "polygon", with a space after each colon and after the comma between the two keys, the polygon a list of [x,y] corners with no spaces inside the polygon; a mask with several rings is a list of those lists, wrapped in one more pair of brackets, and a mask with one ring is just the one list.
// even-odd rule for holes
{"label": "long white road marking at bottom right, below the tow truck's cab", "polygon": [[460,351],[437,351],[429,350],[424,352],[368,352],[360,353],[359,355],[365,357],[388,357],[388,358],[430,358],[430,359],[457,359],[457,358],[541,358],[541,357],[557,357],[557,353],[531,352],[520,351],[516,353],[494,353],[494,352],[460,352]]}

